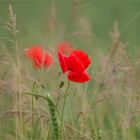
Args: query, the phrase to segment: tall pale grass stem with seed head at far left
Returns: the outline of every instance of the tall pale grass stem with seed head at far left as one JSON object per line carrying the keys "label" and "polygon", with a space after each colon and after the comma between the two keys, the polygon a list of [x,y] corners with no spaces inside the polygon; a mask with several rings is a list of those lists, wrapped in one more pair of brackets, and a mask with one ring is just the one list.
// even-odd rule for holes
{"label": "tall pale grass stem with seed head at far left", "polygon": [[[17,94],[16,94],[16,109],[19,110],[19,122],[18,118],[16,118],[16,139],[18,139],[18,130],[20,131],[20,139],[23,139],[23,118],[22,118],[22,95],[21,95],[21,76],[20,76],[20,56],[19,56],[19,41],[17,39],[18,30],[16,29],[16,14],[13,12],[12,5],[9,4],[9,21],[5,23],[5,28],[10,31],[13,36],[13,42],[16,48],[16,70],[17,70],[17,77],[16,77],[16,87],[17,87]],[[18,105],[19,102],[19,105]],[[20,129],[18,128],[18,123],[20,124]]]}

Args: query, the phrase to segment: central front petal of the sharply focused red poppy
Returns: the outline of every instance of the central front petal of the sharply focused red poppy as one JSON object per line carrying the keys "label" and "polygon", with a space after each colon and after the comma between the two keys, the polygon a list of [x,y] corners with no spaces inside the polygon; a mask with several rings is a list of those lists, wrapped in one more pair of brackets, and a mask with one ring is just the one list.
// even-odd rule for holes
{"label": "central front petal of the sharply focused red poppy", "polygon": [[69,68],[75,72],[83,72],[85,70],[83,63],[73,54],[69,56]]}

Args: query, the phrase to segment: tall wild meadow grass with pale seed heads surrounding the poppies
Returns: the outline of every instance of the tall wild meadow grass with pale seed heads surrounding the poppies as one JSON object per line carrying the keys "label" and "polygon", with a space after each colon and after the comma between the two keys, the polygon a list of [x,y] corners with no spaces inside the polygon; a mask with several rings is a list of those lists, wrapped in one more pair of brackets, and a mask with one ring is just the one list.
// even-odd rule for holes
{"label": "tall wild meadow grass with pale seed heads surrounding the poppies", "polygon": [[[83,4],[74,1],[72,14],[77,17]],[[58,23],[54,1],[51,6],[48,26],[53,40]],[[79,17],[77,24],[72,35],[90,46],[94,40],[90,23]],[[1,35],[0,40],[0,140],[140,139],[140,58],[129,56],[117,21],[110,33],[110,51],[92,48],[96,51],[92,53],[87,49],[92,79],[70,85],[57,58],[49,70],[34,70],[27,62],[11,5],[4,27],[7,36]],[[57,32],[62,36],[54,39],[55,43],[65,35],[63,28]],[[55,45],[50,50],[56,57]]]}

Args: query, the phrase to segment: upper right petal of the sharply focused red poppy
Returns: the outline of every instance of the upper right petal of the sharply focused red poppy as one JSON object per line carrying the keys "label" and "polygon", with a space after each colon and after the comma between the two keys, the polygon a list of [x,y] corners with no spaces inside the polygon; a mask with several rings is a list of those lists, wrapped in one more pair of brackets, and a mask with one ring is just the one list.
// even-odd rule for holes
{"label": "upper right petal of the sharply focused red poppy", "polygon": [[88,54],[86,54],[82,50],[74,50],[71,52],[71,55],[74,54],[81,60],[81,62],[84,64],[85,69],[88,67],[88,65],[91,63],[91,60],[88,57]]}

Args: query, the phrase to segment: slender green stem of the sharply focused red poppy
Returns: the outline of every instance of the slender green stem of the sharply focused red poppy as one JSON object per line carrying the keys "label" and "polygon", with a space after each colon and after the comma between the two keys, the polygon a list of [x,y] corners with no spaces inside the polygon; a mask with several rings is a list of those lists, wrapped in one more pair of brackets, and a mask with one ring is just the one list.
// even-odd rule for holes
{"label": "slender green stem of the sharply focused red poppy", "polygon": [[65,111],[65,105],[66,105],[66,99],[67,99],[69,87],[70,87],[70,81],[68,81],[67,88],[65,90],[64,102],[63,102],[63,106],[62,106],[61,124],[60,124],[60,139],[61,139],[61,133],[62,133],[62,128],[63,128],[64,111]]}

